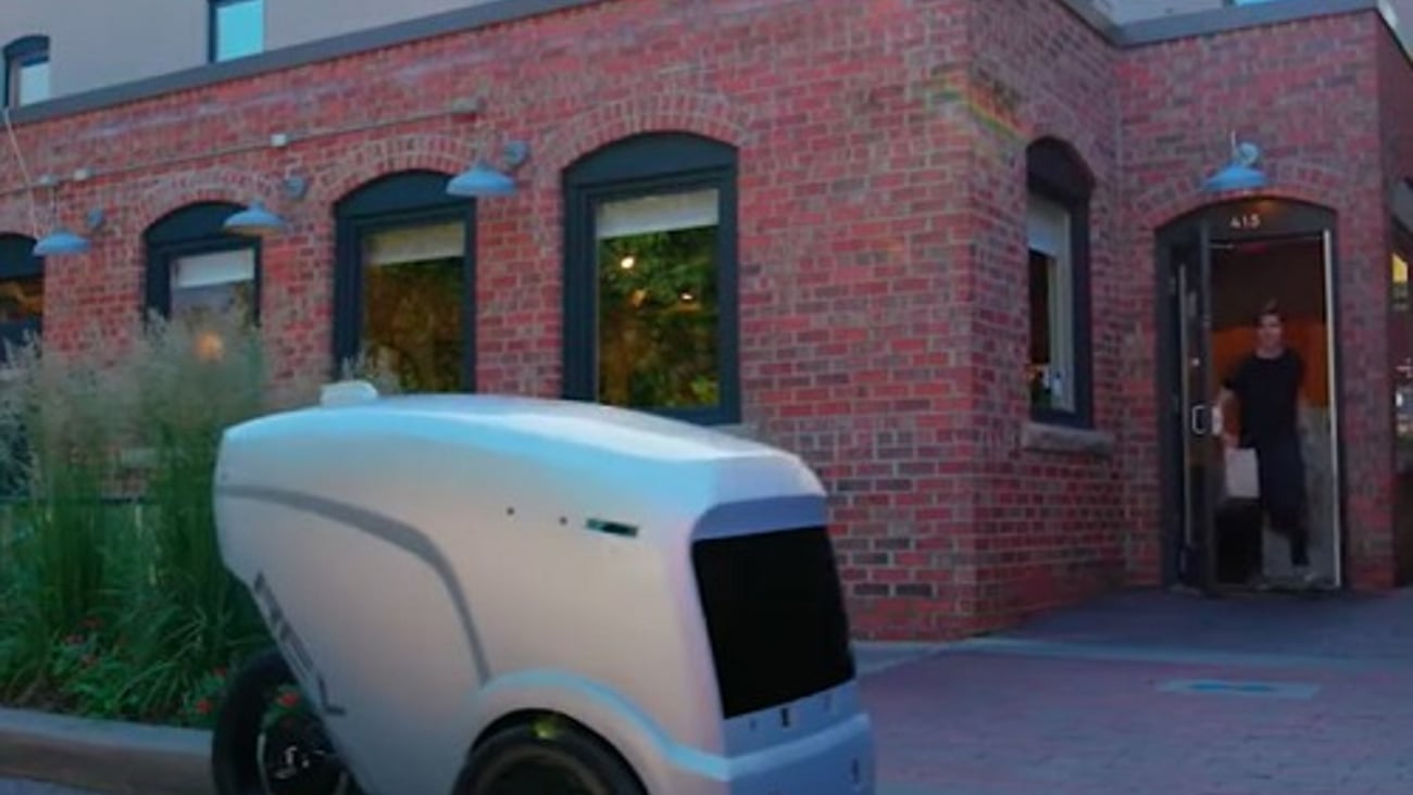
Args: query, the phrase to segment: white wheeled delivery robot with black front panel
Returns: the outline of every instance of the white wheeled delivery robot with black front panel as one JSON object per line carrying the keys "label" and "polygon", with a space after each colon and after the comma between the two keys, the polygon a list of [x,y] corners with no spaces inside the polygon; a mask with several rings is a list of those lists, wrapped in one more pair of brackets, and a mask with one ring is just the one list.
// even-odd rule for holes
{"label": "white wheeled delivery robot with black front panel", "polygon": [[220,795],[873,794],[796,456],[346,381],[226,431],[215,508],[278,645],[222,703]]}

